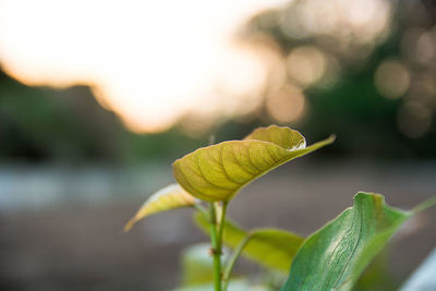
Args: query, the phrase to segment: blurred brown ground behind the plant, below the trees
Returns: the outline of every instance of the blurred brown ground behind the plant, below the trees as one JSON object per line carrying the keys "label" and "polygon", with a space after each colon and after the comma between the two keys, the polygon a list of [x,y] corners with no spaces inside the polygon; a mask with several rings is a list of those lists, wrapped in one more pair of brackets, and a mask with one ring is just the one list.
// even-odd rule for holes
{"label": "blurred brown ground behind the plant, below the trees", "polygon": [[[244,189],[231,203],[229,215],[249,229],[279,227],[307,235],[351,206],[358,191],[383,193],[388,204],[409,209],[436,195],[435,177],[434,163],[299,160]],[[181,251],[207,238],[191,222],[191,209],[149,217],[123,233],[124,222],[143,202],[140,194],[2,211],[0,289],[159,291],[175,287]],[[396,280],[404,280],[436,245],[435,225],[433,208],[393,238],[389,265]]]}

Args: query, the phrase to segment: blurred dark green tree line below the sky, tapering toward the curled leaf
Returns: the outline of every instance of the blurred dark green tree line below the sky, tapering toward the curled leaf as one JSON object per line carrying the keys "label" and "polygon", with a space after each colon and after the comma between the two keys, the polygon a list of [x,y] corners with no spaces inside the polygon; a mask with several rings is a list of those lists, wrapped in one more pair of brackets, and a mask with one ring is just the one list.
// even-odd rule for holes
{"label": "blurred dark green tree line below the sky, tapering toward the curled leaf", "polygon": [[86,86],[29,87],[0,70],[0,160],[122,162],[175,159],[207,137],[180,130],[135,134],[102,108]]}

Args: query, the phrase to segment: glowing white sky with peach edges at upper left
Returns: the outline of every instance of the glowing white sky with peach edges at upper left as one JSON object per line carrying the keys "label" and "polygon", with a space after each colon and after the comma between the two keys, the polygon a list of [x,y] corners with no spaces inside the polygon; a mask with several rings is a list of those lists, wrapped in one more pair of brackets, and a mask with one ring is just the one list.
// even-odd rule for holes
{"label": "glowing white sky with peach edges at upper left", "polygon": [[29,85],[89,84],[131,130],[160,131],[256,102],[266,69],[234,34],[282,2],[0,0],[0,63]]}

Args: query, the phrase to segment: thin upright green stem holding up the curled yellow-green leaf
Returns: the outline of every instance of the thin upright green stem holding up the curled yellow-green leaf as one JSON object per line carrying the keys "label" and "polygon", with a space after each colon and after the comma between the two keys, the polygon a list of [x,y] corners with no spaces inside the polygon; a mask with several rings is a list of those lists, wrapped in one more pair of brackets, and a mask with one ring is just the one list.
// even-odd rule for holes
{"label": "thin upright green stem holding up the curled yellow-green leaf", "polygon": [[221,242],[217,232],[217,213],[214,203],[210,203],[210,244],[214,256],[214,286],[215,291],[221,290]]}

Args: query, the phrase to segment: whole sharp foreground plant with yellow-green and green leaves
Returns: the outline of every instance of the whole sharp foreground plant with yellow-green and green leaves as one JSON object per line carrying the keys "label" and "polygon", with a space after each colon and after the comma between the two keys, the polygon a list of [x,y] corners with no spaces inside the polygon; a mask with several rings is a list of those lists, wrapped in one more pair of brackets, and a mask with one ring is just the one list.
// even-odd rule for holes
{"label": "whole sharp foreground plant with yellow-green and green leaves", "polygon": [[[267,269],[289,272],[281,291],[350,290],[399,227],[415,213],[435,204],[435,199],[404,211],[386,205],[379,194],[358,193],[353,207],[308,238],[278,229],[245,231],[227,218],[228,205],[242,187],[334,141],[330,136],[306,147],[305,138],[298,131],[271,125],[255,130],[242,141],[199,148],[175,160],[173,172],[178,183],[152,195],[125,230],[152,214],[180,207],[197,210],[194,219],[210,237],[213,276],[206,280],[187,280],[185,284],[194,287],[183,290],[227,291],[229,286],[233,290],[249,290],[249,283],[232,281],[232,269],[240,255]],[[223,245],[233,250],[225,265]],[[209,289],[205,286],[195,289],[195,283],[208,280],[213,280]],[[262,290],[277,288],[271,289],[269,284]]]}

